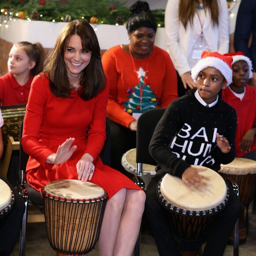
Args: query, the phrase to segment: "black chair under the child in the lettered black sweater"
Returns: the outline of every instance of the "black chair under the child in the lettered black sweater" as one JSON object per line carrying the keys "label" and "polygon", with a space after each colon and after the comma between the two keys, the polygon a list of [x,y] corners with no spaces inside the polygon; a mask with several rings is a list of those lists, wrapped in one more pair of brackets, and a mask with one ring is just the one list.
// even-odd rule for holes
{"label": "black chair under the child in the lettered black sweater", "polygon": [[[151,180],[151,175],[142,173],[143,164],[150,164],[156,166],[157,163],[149,153],[149,143],[154,133],[154,129],[161,119],[166,109],[151,109],[144,112],[138,119],[136,132],[136,162],[137,162],[137,176],[136,184],[146,190],[147,184]],[[238,186],[232,179],[227,179],[233,186],[234,192],[238,196]],[[234,228],[233,252],[234,256],[239,255],[239,237],[238,237],[238,220]],[[136,241],[135,256],[139,256],[140,233]]]}

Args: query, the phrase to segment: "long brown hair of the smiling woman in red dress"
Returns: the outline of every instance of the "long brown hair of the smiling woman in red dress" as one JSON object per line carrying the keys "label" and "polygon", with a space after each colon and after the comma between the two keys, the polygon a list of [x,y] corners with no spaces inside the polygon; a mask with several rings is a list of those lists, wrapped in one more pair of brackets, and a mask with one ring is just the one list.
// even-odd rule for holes
{"label": "long brown hair of the smiling woman in red dress", "polygon": [[45,60],[44,74],[50,80],[50,89],[54,95],[72,98],[72,85],[68,79],[64,62],[64,52],[70,37],[77,34],[82,41],[83,49],[91,51],[90,63],[83,70],[79,84],[79,96],[88,100],[96,96],[105,86],[105,73],[102,67],[100,46],[94,29],[84,20],[74,20],[60,31],[54,48]]}

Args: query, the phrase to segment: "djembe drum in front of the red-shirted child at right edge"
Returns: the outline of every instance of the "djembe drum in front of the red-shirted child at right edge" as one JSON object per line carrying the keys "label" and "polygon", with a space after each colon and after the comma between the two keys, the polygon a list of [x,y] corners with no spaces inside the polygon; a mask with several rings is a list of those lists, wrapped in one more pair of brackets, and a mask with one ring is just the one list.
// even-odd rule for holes
{"label": "djembe drum in front of the red-shirted child at right edge", "polygon": [[[244,207],[239,215],[239,243],[243,244],[247,239],[248,216],[244,218],[245,208],[251,203],[256,184],[256,161],[247,158],[235,158],[227,165],[221,165],[219,174],[230,177],[239,187],[239,200]],[[230,235],[230,243],[233,243],[233,233]]]}

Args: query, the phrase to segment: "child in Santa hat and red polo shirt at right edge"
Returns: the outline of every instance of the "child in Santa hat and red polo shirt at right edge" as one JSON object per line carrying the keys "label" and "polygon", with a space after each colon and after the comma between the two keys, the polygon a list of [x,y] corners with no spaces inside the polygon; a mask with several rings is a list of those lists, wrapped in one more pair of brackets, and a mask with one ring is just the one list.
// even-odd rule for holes
{"label": "child in Santa hat and red polo shirt at right edge", "polygon": [[252,61],[242,52],[224,55],[233,57],[233,81],[222,98],[237,111],[236,157],[256,160],[256,89],[247,84]]}

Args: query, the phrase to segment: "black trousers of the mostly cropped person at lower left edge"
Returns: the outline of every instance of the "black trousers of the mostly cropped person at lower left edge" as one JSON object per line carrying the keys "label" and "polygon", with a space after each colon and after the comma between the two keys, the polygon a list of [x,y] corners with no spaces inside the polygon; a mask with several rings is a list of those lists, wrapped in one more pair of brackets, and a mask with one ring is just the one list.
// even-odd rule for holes
{"label": "black trousers of the mostly cropped person at lower left edge", "polygon": [[0,256],[9,256],[16,245],[22,226],[25,203],[11,183],[0,176],[0,179],[9,185],[14,193],[15,203],[10,212],[0,218]]}

